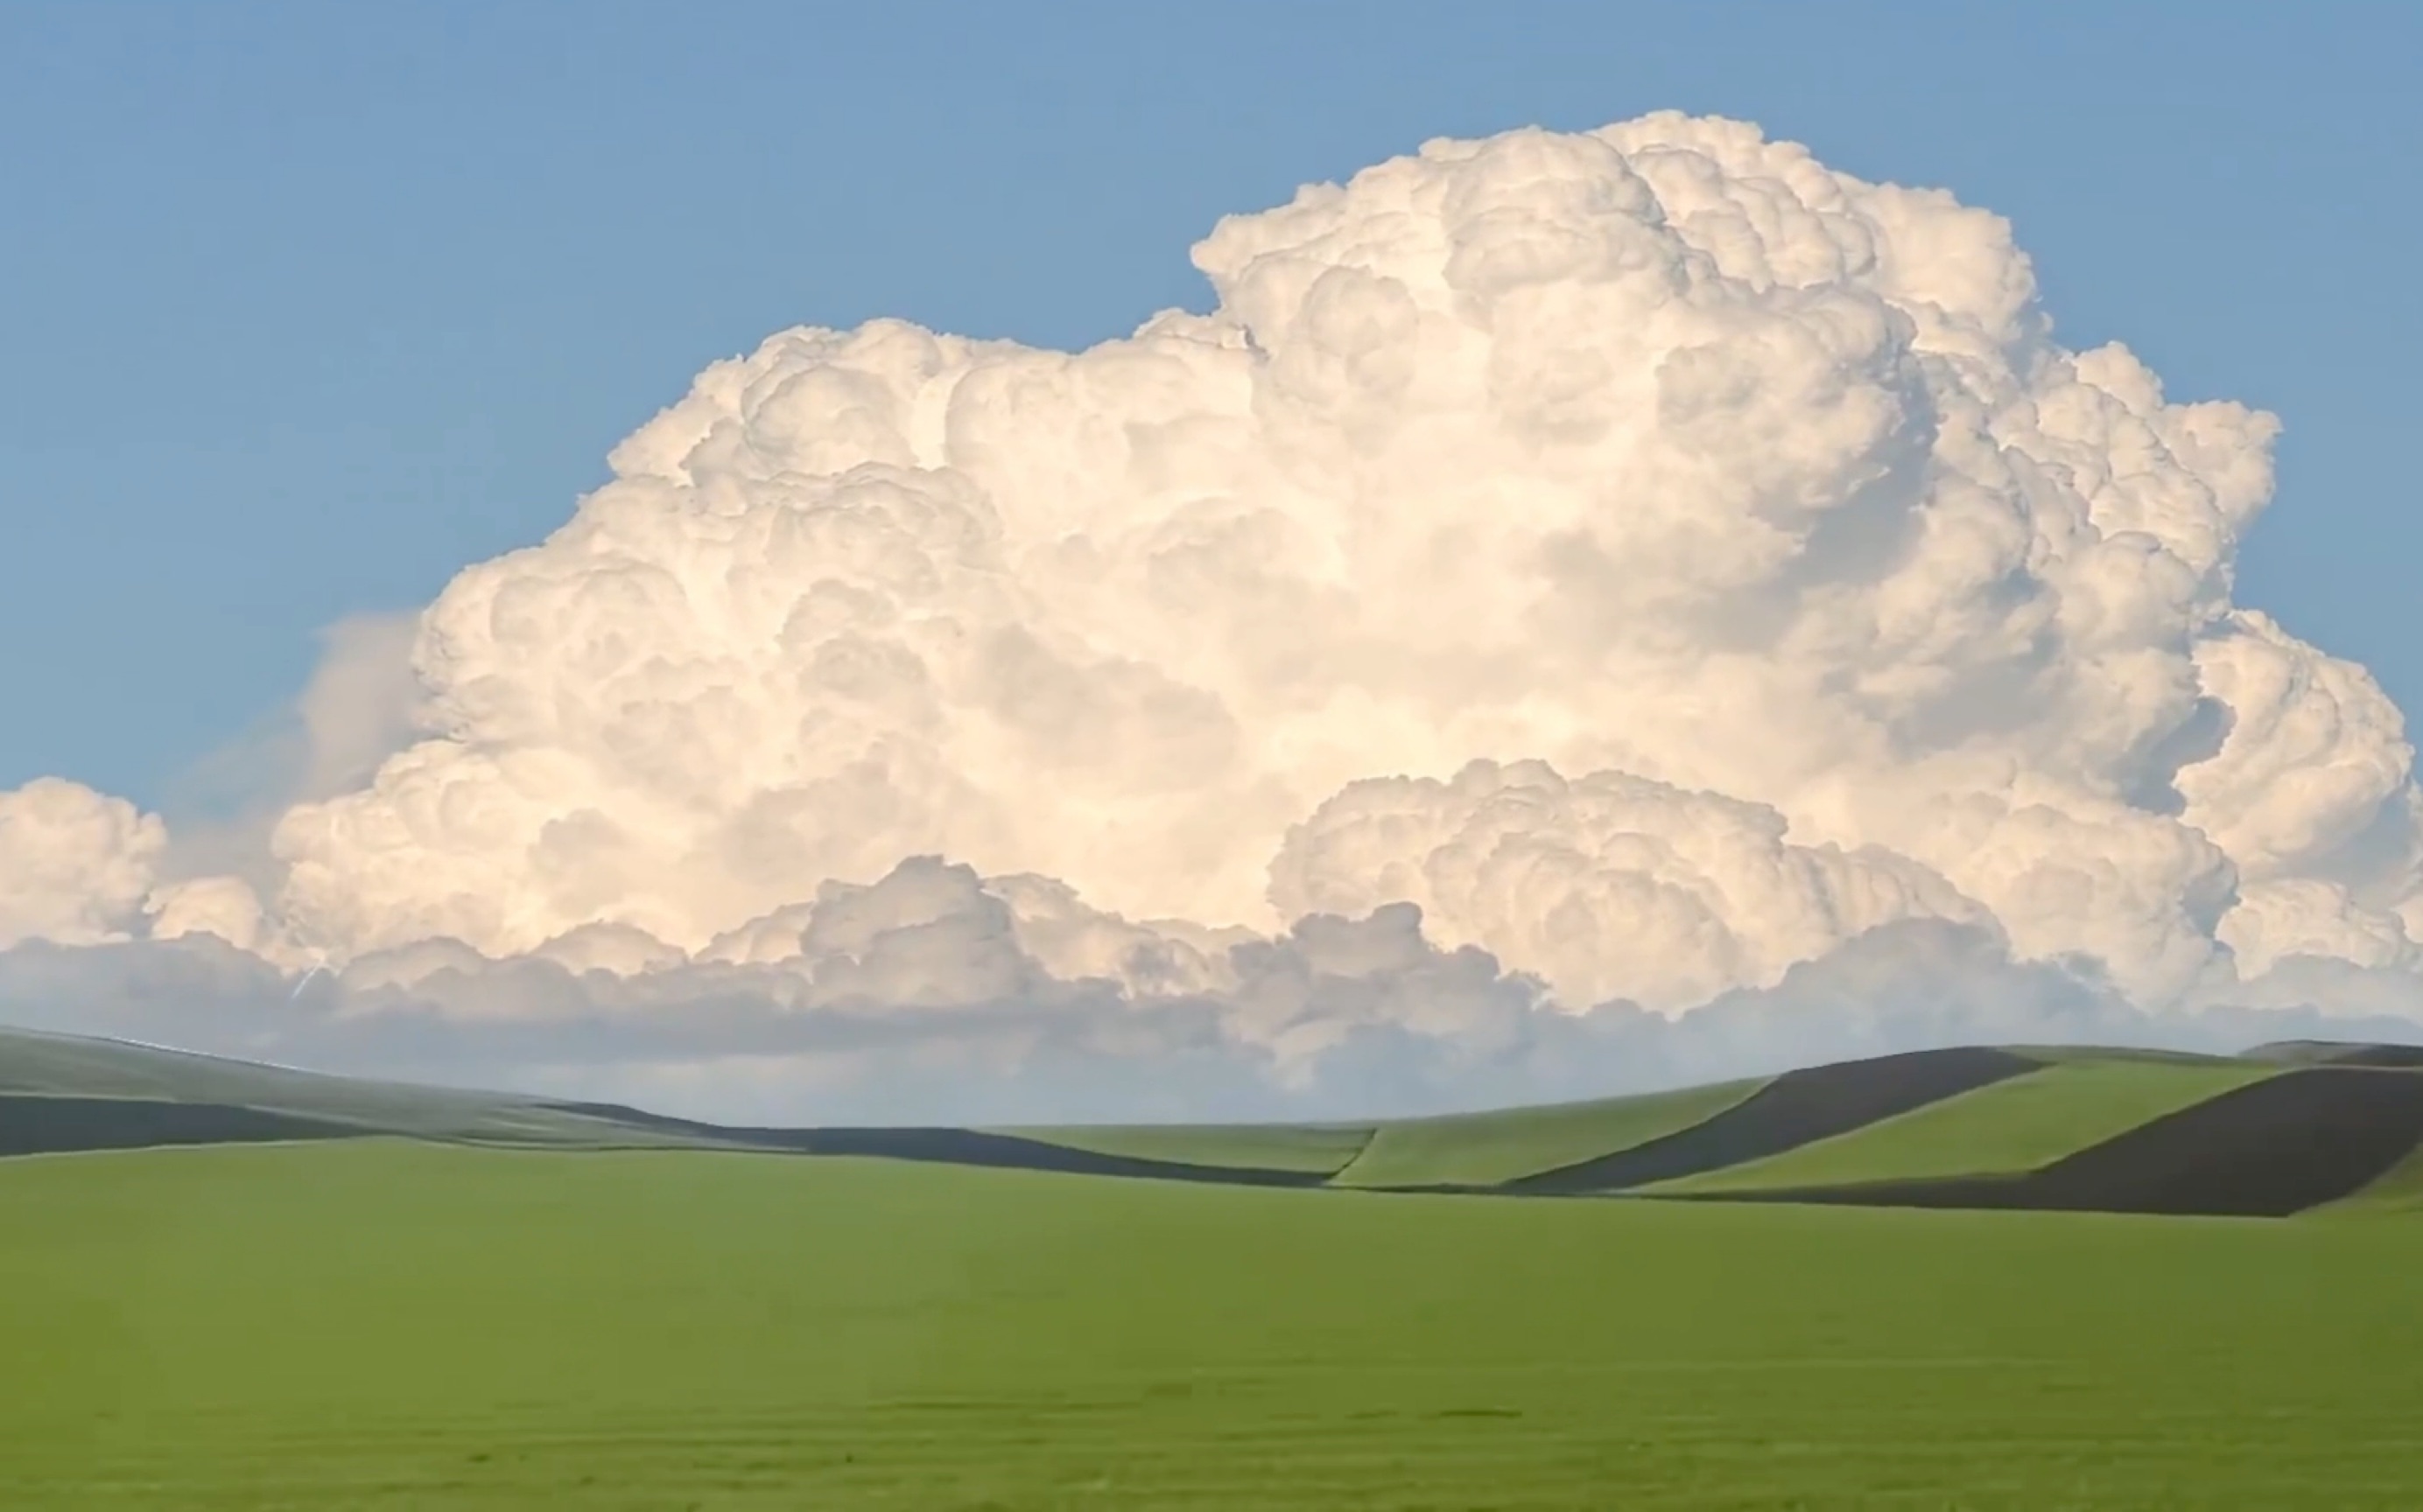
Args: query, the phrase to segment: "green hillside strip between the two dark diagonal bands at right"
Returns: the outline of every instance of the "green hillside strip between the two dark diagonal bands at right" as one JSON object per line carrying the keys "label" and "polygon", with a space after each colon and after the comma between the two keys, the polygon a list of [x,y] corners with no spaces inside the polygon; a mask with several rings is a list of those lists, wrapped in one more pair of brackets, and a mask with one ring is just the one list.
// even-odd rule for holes
{"label": "green hillside strip between the two dark diagonal bands at right", "polygon": [[1754,1192],[1885,1180],[2016,1175],[2166,1112],[2273,1076],[2212,1059],[2077,1056],[1781,1156],[1645,1187]]}

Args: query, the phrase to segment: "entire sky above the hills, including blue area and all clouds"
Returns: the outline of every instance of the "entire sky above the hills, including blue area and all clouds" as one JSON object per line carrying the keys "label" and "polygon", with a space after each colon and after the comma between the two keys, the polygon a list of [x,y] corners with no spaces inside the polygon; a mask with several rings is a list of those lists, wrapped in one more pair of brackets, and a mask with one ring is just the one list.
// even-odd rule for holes
{"label": "entire sky above the hills, including blue area and all clouds", "polygon": [[911,1122],[2413,1040],[2416,44],[0,7],[0,1023]]}

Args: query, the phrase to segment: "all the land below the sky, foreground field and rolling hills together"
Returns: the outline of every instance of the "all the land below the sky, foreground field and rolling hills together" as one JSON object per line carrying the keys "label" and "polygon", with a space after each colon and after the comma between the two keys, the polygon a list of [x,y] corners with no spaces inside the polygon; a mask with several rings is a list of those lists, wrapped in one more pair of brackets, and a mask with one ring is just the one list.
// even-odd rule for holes
{"label": "all the land below the sky, foreground field and rolling hills together", "polygon": [[0,1505],[2404,1512],[2367,1059],[741,1129],[0,1032]]}

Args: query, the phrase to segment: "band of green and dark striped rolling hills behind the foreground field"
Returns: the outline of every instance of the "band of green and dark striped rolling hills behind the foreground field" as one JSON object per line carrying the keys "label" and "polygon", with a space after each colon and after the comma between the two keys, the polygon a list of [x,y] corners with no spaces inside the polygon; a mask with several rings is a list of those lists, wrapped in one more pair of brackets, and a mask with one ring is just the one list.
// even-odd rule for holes
{"label": "band of green and dark striped rolling hills behind the foreground field", "polygon": [[0,1153],[368,1136],[1357,1192],[2290,1216],[2418,1204],[2423,1054],[1965,1047],[1367,1124],[775,1129],[0,1032]]}

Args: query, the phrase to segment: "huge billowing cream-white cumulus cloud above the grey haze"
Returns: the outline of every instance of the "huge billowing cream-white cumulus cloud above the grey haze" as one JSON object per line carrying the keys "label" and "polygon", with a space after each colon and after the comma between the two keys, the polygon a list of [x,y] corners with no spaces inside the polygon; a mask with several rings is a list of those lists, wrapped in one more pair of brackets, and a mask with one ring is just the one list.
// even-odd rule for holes
{"label": "huge billowing cream-white cumulus cloud above the grey haze", "polygon": [[1849,1044],[1810,972],[1878,952],[2156,1020],[2411,1001],[2401,715],[2232,603],[2278,422],[2060,346],[1999,216],[1657,114],[1434,141],[1195,264],[1207,315],[1086,351],[710,366],[409,678],[337,659],[257,870],[155,897],[85,795],[0,838],[0,930],[148,897],[482,981],[448,1023],[1083,1001],[1274,1088],[1381,1040],[1604,1071],[1623,1013]]}

